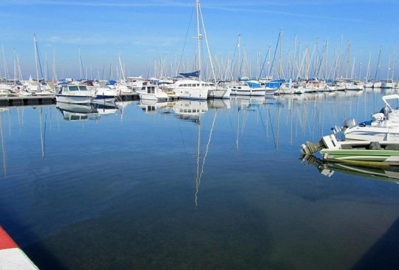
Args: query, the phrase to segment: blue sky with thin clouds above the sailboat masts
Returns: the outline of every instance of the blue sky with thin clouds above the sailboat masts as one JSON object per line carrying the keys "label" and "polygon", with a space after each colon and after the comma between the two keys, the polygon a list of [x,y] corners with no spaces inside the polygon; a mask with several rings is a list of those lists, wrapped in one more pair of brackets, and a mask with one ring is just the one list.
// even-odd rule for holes
{"label": "blue sky with thin clouds above the sailboat masts", "polygon": [[[212,57],[219,63],[237,61],[241,35],[240,53],[246,55],[250,66],[247,72],[252,77],[257,76],[257,63],[269,48],[269,55],[274,54],[280,30],[284,70],[288,70],[288,59],[293,58],[294,51],[305,55],[309,48],[309,55],[328,59],[326,66],[341,54],[341,65],[356,77],[366,77],[371,55],[374,77],[381,50],[379,77],[383,79],[392,71],[398,77],[399,67],[393,62],[399,37],[398,0],[202,0],[200,4]],[[111,65],[114,72],[120,69],[118,55],[126,76],[152,77],[161,65],[172,75],[172,67],[180,59],[185,62],[180,72],[187,72],[188,59],[195,53],[195,40],[191,38],[195,33],[189,27],[190,20],[195,19],[194,8],[194,0],[0,0],[4,52],[0,65],[4,66],[5,60],[9,77],[14,77],[18,56],[24,79],[36,77],[35,34],[42,69],[48,70],[49,79],[54,58],[58,78],[81,77],[82,63],[89,79],[109,79]],[[296,59],[299,61],[299,57]],[[0,70],[4,76],[4,68]],[[115,79],[115,75],[112,77]]]}

